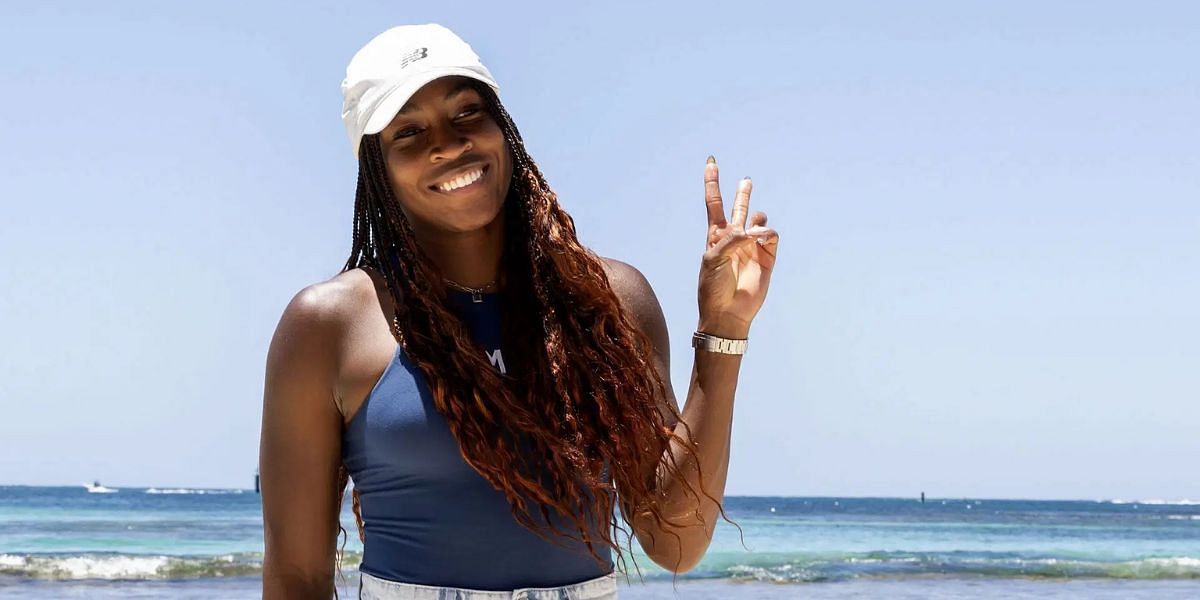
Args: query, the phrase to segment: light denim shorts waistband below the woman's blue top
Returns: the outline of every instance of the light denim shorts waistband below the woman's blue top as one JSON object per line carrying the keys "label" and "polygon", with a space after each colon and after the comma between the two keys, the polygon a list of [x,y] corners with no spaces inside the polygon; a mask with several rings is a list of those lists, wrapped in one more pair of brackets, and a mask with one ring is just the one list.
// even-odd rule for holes
{"label": "light denim shorts waistband below the woman's blue top", "polygon": [[556,588],[521,588],[512,592],[401,583],[361,571],[359,576],[360,600],[617,600],[616,572]]}

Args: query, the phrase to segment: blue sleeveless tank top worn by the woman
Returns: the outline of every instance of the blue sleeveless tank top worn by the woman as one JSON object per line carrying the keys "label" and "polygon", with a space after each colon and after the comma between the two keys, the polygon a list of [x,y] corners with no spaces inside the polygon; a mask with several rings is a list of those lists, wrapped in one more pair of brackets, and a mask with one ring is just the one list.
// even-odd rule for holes
{"label": "blue sleeveless tank top worn by the woman", "polygon": [[[499,296],[481,299],[449,293],[480,352],[504,372]],[[548,542],[516,521],[504,494],[462,458],[424,373],[400,347],[350,419],[342,461],[359,492],[364,572],[424,586],[511,590],[612,571],[610,548],[593,542],[606,560],[601,566],[583,544],[560,536],[562,545]],[[566,520],[552,522],[574,530]],[[593,540],[600,539],[599,527],[607,523],[596,524]]]}

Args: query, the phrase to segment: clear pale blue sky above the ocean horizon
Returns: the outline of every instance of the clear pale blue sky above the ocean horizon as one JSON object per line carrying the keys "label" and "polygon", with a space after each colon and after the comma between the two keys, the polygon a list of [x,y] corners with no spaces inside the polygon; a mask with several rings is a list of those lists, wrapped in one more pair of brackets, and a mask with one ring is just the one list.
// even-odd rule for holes
{"label": "clear pale blue sky above the ocean horizon", "polygon": [[714,154],[782,235],[731,494],[1200,499],[1194,2],[6,2],[0,484],[248,486],[349,250],[338,84],[484,58],[686,389]]}

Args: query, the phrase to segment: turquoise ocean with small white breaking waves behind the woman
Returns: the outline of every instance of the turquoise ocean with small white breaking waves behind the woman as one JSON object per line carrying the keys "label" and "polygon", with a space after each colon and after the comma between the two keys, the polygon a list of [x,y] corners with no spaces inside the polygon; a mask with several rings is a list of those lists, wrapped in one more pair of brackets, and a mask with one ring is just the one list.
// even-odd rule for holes
{"label": "turquoise ocean with small white breaking waves behind the woman", "polygon": [[[346,503],[347,508],[349,503]],[[728,497],[672,582],[635,553],[624,600],[1200,598],[1200,500]],[[361,557],[347,510],[346,576]],[[0,486],[0,599],[260,594],[248,490]]]}

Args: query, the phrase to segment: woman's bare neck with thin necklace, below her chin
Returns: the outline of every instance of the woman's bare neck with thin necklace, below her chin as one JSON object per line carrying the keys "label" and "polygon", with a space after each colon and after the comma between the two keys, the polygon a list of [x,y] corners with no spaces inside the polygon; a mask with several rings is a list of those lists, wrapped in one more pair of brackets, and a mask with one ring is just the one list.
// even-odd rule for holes
{"label": "woman's bare neck with thin necklace, below her chin", "polygon": [[[414,232],[416,233],[416,232]],[[480,229],[470,232],[416,233],[416,242],[442,276],[468,288],[494,292],[500,281],[500,260],[504,256],[504,214]]]}

